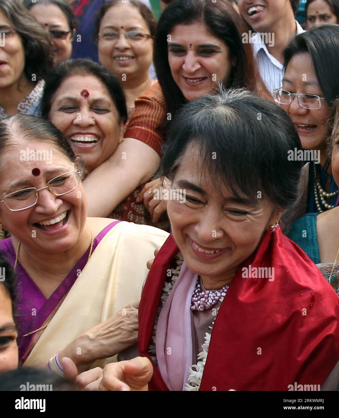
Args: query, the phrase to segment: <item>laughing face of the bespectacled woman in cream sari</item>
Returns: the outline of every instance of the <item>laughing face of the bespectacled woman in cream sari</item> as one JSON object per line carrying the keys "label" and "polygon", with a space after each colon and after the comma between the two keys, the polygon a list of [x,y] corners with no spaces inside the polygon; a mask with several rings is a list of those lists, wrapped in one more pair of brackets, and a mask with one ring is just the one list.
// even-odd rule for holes
{"label": "laughing face of the bespectacled woman in cream sari", "polygon": [[[40,189],[59,174],[75,170],[75,166],[51,143],[29,142],[35,150],[53,147],[53,161],[21,161],[20,149],[27,142],[13,145],[2,159],[0,171],[1,197],[8,193],[35,187]],[[40,176],[33,176],[32,169],[38,167]],[[5,173],[5,175],[4,175]],[[1,204],[0,219],[13,236],[30,252],[62,252],[74,247],[81,237],[87,215],[87,199],[82,184],[63,196],[55,196],[48,189],[39,191],[35,206],[19,212],[11,212]],[[32,233],[35,231],[36,236]]]}

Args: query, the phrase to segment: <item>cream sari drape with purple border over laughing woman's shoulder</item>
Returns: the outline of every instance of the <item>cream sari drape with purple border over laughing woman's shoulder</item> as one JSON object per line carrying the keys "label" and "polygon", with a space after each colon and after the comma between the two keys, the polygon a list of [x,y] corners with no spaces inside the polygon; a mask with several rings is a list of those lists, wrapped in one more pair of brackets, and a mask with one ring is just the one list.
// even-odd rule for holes
{"label": "cream sari drape with purple border over laughing woman's shoulder", "polygon": [[[87,252],[83,255],[81,274],[73,277],[83,257],[61,283],[64,294],[59,290],[58,299],[54,297],[49,307],[48,299],[47,308],[40,309],[42,315],[37,313],[34,326],[48,326],[23,342],[25,366],[47,362],[78,335],[140,298],[148,273],[147,260],[154,257],[154,249],[164,243],[168,233],[131,222],[112,222],[100,234],[103,232],[87,263]],[[112,361],[116,361],[116,356],[99,360],[92,367],[103,367]]]}

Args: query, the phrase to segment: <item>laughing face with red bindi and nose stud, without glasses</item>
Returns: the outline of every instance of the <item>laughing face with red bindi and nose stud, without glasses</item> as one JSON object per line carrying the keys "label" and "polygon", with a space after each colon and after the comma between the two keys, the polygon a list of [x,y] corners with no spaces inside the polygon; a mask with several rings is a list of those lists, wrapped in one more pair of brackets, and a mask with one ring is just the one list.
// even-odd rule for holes
{"label": "laughing face with red bindi and nose stud, without glasses", "polygon": [[[81,95],[79,86],[89,92],[89,97]],[[108,90],[95,76],[64,79],[53,96],[49,118],[90,171],[114,153],[123,135],[124,122]]]}

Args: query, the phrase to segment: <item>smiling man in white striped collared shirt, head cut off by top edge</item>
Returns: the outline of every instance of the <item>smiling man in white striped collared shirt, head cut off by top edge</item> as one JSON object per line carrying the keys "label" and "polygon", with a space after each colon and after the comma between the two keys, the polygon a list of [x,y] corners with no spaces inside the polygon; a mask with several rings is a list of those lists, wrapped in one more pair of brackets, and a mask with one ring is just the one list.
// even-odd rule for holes
{"label": "smiling man in white striped collared shirt, head cut off by top edge", "polygon": [[292,36],[304,32],[294,18],[298,6],[299,0],[238,0],[241,15],[257,32],[252,37],[243,36],[243,42],[252,44],[261,77],[271,94],[282,86],[283,50]]}

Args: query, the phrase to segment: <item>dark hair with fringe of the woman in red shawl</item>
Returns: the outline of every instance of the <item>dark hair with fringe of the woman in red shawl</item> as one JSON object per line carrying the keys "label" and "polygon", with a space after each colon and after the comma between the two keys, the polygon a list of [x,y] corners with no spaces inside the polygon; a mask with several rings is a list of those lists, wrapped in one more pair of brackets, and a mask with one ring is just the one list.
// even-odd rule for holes
{"label": "dark hair with fringe of the woman in red shawl", "polygon": [[219,190],[226,186],[251,201],[266,198],[277,209],[298,198],[304,163],[288,155],[302,149],[299,135],[286,112],[266,99],[220,86],[219,94],[185,104],[168,133],[162,176],[173,180],[189,145],[198,148],[202,175]]}

